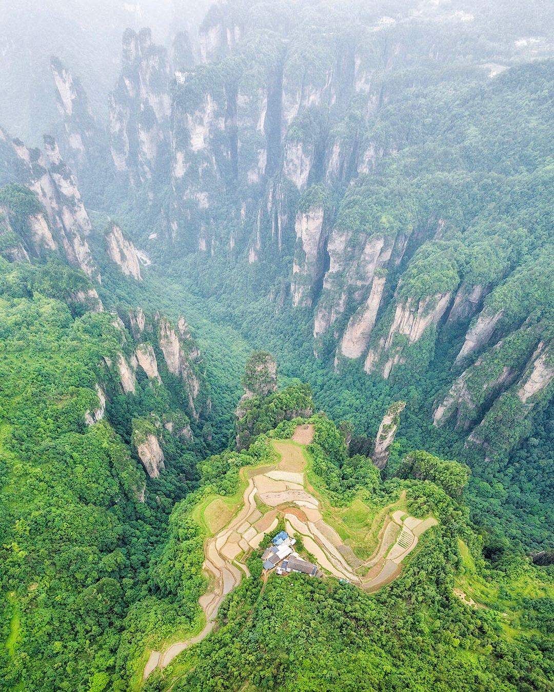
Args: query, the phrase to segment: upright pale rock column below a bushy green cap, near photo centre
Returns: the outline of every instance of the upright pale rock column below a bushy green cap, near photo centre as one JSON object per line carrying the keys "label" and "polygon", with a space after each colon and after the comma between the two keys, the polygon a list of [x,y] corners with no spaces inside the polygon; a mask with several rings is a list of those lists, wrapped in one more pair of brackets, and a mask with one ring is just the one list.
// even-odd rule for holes
{"label": "upright pale rock column below a bushy green cap, near photo centre", "polygon": [[312,304],[312,287],[323,275],[323,208],[296,215],[296,255],[292,266],[291,295],[294,307]]}

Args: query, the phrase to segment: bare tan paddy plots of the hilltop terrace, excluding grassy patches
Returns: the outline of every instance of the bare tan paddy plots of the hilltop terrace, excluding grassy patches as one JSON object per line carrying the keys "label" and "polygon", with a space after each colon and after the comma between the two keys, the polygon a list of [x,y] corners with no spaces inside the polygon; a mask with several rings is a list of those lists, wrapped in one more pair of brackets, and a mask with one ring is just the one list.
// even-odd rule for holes
{"label": "bare tan paddy plots of the hilltop terrace, excluding grassy patches", "polygon": [[[337,579],[350,581],[368,591],[375,591],[396,579],[402,572],[402,561],[417,545],[418,536],[437,523],[433,518],[420,520],[401,510],[393,512],[382,531],[379,531],[379,543],[373,556],[361,563],[352,549],[343,543],[337,531],[325,522],[321,504],[307,482],[303,447],[310,444],[313,437],[314,426],[298,426],[292,441],[272,441],[279,456],[277,464],[248,471],[240,510],[204,545],[202,567],[212,576],[213,584],[198,600],[206,617],[204,629],[195,637],[175,642],[163,653],[152,651],[143,671],[143,680],[155,668],[166,668],[179,653],[209,635],[215,626],[217,610],[226,595],[240,584],[243,576],[250,576],[247,565],[239,560],[240,556],[258,549],[264,536],[276,528],[278,516],[285,518],[285,526],[290,534],[301,536],[305,548],[324,570]],[[258,509],[256,498],[265,513]],[[393,505],[382,512],[391,507]],[[350,564],[347,556],[350,556],[350,563],[356,561],[356,564]],[[368,570],[365,576],[356,574],[360,567]],[[260,596],[265,590],[267,574],[263,578]]]}

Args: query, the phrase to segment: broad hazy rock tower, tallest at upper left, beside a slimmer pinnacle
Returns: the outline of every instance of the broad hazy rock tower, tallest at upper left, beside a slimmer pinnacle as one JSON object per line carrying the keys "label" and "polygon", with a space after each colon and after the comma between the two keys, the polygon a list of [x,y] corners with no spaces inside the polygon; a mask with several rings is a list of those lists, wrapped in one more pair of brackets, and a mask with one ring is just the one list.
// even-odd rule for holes
{"label": "broad hazy rock tower, tallest at upper left, beside a slimmer pinnacle", "polygon": [[170,67],[165,49],[152,44],[150,29],[125,31],[122,61],[109,96],[109,143],[116,170],[138,183],[152,177],[158,158],[168,152]]}

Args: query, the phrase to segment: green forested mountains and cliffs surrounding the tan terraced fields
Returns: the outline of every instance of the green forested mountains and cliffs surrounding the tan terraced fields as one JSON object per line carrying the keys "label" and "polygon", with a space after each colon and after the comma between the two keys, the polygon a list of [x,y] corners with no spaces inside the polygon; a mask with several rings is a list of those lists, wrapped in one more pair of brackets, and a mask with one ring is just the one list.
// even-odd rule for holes
{"label": "green forested mountains and cliffs surrounding the tan terraced fields", "polygon": [[[125,31],[108,118],[52,60],[59,149],[0,129],[0,689],[554,690],[553,30],[217,3]],[[375,593],[249,549],[143,680],[208,626],[198,508],[307,421],[352,525],[438,525]]]}

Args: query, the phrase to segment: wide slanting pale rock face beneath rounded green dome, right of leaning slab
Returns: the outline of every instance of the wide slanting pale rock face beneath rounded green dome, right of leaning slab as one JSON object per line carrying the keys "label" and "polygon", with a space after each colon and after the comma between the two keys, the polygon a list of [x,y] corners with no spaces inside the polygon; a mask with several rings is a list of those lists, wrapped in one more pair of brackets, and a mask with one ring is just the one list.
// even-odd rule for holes
{"label": "wide slanting pale rock face beneath rounded green dome, right of leaning slab", "polygon": [[[431,295],[420,300],[417,305],[410,298],[406,302],[398,303],[388,334],[379,339],[374,349],[370,349],[364,370],[374,372],[378,368],[384,379],[388,379],[395,365],[405,363],[402,346],[394,346],[395,336],[407,337],[408,344],[420,340],[428,327],[438,324],[448,307],[451,295],[450,292]],[[384,358],[386,360],[383,363]]]}

